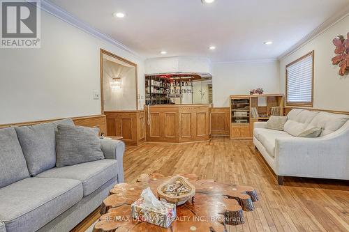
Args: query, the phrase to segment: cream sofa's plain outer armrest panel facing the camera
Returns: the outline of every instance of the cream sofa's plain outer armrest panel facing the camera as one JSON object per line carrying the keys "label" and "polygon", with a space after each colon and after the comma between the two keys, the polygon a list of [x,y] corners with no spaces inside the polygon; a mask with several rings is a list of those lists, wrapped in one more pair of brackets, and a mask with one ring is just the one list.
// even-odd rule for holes
{"label": "cream sofa's plain outer armrest panel facing the camera", "polygon": [[276,174],[349,179],[349,133],[276,139]]}

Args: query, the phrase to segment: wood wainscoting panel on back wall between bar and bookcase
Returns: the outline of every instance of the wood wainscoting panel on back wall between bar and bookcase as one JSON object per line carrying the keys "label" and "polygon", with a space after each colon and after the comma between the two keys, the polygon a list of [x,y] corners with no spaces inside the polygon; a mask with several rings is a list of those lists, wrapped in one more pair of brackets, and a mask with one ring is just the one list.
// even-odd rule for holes
{"label": "wood wainscoting panel on back wall between bar and bookcase", "polygon": [[214,107],[211,109],[211,134],[230,135],[229,107]]}

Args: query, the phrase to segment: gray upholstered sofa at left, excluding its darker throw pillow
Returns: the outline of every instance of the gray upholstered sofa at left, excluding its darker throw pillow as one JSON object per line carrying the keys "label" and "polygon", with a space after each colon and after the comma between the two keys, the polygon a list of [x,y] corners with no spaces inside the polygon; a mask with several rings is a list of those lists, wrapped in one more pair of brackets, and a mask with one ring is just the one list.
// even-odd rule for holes
{"label": "gray upholstered sofa at left, excluding its darker throw pillow", "polygon": [[65,119],[0,130],[0,232],[70,231],[124,182],[122,141],[101,139],[103,160],[55,167],[58,124],[74,125]]}

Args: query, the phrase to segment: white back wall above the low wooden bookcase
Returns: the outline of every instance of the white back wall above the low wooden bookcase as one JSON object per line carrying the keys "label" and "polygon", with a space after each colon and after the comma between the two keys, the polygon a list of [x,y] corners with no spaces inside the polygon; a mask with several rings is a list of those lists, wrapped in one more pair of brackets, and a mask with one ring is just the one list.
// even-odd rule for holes
{"label": "white back wall above the low wooden bookcase", "polygon": [[228,107],[229,95],[249,94],[255,88],[279,93],[278,61],[213,63],[212,76],[214,107]]}

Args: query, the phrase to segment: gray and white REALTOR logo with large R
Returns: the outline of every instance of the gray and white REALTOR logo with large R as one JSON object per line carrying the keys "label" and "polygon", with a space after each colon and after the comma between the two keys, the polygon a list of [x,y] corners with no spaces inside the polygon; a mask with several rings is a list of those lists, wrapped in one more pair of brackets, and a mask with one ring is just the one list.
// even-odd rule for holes
{"label": "gray and white REALTOR logo with large R", "polygon": [[1,1],[1,48],[40,48],[40,0]]}

